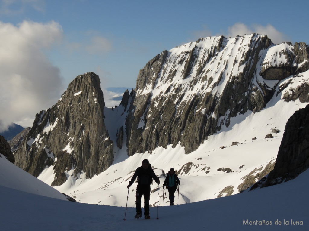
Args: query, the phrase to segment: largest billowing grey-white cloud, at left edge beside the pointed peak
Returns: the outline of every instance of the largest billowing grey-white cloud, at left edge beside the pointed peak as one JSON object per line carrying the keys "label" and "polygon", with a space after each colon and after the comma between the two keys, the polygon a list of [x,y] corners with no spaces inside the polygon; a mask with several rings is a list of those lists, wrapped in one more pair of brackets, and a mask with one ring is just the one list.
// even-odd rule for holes
{"label": "largest billowing grey-white cloud, at left edge beside the pointed peak", "polygon": [[61,38],[56,22],[0,22],[0,130],[16,121],[32,126],[29,118],[33,122],[36,113],[57,102],[63,89],[60,71],[43,51]]}

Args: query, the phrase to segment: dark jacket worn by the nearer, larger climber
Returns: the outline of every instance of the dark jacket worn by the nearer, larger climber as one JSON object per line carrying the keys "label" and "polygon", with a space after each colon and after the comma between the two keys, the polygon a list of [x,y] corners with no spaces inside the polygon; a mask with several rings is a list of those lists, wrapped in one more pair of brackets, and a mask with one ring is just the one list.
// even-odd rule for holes
{"label": "dark jacket worn by the nearer, larger climber", "polygon": [[[149,164],[148,168],[138,167],[132,176],[132,179],[129,181],[129,186],[134,183],[134,180],[137,178],[137,183],[142,185],[150,185],[152,184],[152,178],[155,182],[159,182],[159,178],[155,175],[154,170],[151,168],[151,164]],[[159,183],[158,183],[159,184]]]}

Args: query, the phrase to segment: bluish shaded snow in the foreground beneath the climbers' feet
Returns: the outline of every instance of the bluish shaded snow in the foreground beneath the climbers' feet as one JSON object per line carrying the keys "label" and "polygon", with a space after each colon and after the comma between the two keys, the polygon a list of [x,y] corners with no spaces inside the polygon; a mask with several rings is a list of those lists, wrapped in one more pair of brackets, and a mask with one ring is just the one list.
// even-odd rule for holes
{"label": "bluish shaded snow in the foreground beneath the climbers' feet", "polygon": [[[41,190],[37,185],[43,184],[35,177],[13,189],[13,185],[19,185],[30,175],[20,170],[23,172],[15,176],[17,167],[3,156],[0,165],[1,230],[309,229],[308,170],[294,180],[252,192],[184,205],[152,207],[150,220],[143,217],[136,220],[135,208],[125,210],[125,203],[123,207],[90,205],[34,194],[34,191]],[[126,201],[127,190],[121,194]],[[135,200],[134,193],[129,193],[129,200]]]}

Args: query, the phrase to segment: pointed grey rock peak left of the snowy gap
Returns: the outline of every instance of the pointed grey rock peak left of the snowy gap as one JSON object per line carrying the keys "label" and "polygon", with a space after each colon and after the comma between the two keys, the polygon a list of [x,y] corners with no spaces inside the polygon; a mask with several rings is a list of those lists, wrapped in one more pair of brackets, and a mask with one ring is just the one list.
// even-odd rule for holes
{"label": "pointed grey rock peak left of the snowy gap", "polygon": [[34,176],[54,165],[52,186],[82,172],[89,178],[103,172],[113,162],[104,105],[99,76],[77,76],[53,107],[36,115],[15,164]]}

